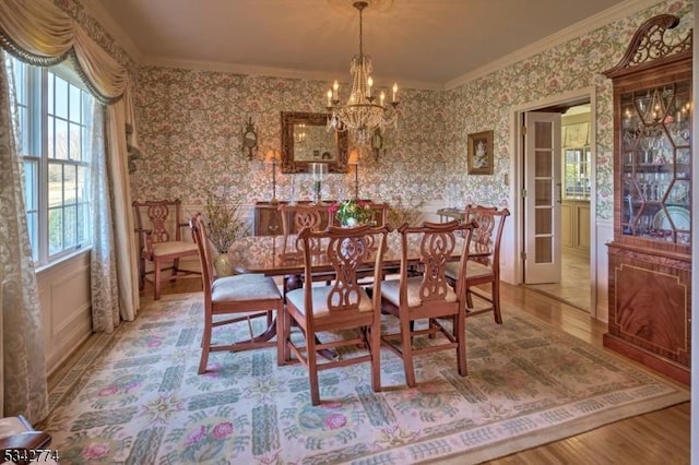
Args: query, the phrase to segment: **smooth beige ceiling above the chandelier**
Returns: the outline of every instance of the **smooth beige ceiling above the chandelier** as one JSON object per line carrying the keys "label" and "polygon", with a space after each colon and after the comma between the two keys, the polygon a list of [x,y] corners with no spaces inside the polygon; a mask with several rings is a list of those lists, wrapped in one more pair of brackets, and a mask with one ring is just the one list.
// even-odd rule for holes
{"label": "smooth beige ceiling above the chandelier", "polygon": [[[141,63],[348,80],[354,0],[84,0]],[[375,82],[441,88],[626,16],[651,0],[372,0],[364,51]],[[574,34],[574,35],[572,35]],[[382,82],[381,80],[390,81]]]}

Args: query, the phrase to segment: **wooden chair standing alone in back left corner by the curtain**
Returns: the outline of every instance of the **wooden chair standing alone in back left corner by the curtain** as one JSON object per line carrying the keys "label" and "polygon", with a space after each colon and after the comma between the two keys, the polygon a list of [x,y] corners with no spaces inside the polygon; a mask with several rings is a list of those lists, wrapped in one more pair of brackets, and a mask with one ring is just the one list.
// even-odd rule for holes
{"label": "wooden chair standing alone in back left corner by the curtain", "polygon": [[[131,205],[139,235],[139,289],[143,290],[145,282],[151,283],[153,298],[158,300],[163,272],[170,271],[169,279],[199,274],[179,267],[180,259],[197,255],[197,246],[182,240],[181,228],[188,224],[181,223],[179,200],[135,201]],[[146,271],[146,262],[153,264],[153,270]],[[163,267],[168,262],[171,265]]]}

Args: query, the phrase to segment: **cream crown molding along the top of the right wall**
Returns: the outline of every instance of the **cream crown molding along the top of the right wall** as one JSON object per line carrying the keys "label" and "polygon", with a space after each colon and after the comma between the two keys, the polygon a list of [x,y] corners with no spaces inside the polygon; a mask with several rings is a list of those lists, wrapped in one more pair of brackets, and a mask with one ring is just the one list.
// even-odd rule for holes
{"label": "cream crown molding along the top of the right wall", "polygon": [[462,74],[457,79],[447,81],[445,83],[445,90],[449,91],[475,79],[483,78],[487,74],[521,61],[522,57],[531,57],[533,55],[541,53],[542,51],[545,51],[549,48],[565,44],[568,40],[572,40],[574,38],[589,34],[602,26],[613,23],[614,21],[621,20],[631,14],[636,14],[650,7],[653,7],[654,4],[662,3],[662,1],[663,0],[627,0],[623,3],[618,3],[612,8],[601,11],[595,15],[587,17],[576,24],[560,29],[555,34],[544,37],[541,40],[534,41],[526,47],[522,47],[481,68]]}

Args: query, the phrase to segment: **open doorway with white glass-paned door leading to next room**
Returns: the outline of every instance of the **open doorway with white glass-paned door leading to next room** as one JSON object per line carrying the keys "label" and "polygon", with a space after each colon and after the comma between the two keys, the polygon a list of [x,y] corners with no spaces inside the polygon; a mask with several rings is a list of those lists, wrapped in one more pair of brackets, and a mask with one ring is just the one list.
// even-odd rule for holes
{"label": "open doorway with white glass-paned door leading to next room", "polygon": [[[560,242],[560,253],[557,255],[559,263],[553,266],[559,270],[555,277],[543,282],[540,276],[528,279],[526,270],[530,253],[522,253],[520,260],[520,283],[526,287],[545,294],[549,297],[561,300],[576,308],[590,312],[595,312],[596,307],[596,259],[595,259],[595,234],[594,234],[594,179],[595,179],[595,156],[594,156],[594,93],[580,93],[577,96],[561,97],[523,106],[516,112],[518,121],[518,157],[517,172],[519,177],[519,189],[521,208],[519,210],[522,237],[519,239],[520,250],[528,251],[528,242],[531,243],[536,236],[536,229],[532,226],[531,216],[534,214],[531,205],[528,207],[526,186],[532,186],[533,179],[528,179],[528,170],[531,171],[531,154],[526,155],[526,130],[524,121],[526,115],[531,112],[557,112],[561,117],[561,130],[559,138],[559,172],[560,184],[553,184],[557,191],[552,198],[553,203],[560,210],[554,224],[554,236]],[[531,133],[530,133],[531,135]],[[541,153],[540,153],[541,156]],[[541,181],[540,181],[541,183]],[[536,202],[540,202],[537,200]],[[531,202],[530,202],[531,203]],[[538,213],[538,212],[536,212]],[[552,215],[555,218],[555,215]],[[529,266],[531,270],[532,267]],[[530,272],[531,273],[531,272]],[[535,284],[534,284],[535,283]]]}

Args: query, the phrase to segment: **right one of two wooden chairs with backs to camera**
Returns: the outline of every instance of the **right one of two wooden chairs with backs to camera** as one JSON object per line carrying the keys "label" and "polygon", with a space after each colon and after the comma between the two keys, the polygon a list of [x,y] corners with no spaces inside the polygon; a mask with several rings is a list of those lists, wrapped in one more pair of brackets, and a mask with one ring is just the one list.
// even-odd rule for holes
{"label": "right one of two wooden chairs with backs to camera", "polygon": [[[454,350],[459,374],[466,375],[466,333],[464,313],[466,307],[466,261],[474,223],[423,223],[422,226],[403,224],[401,234],[401,270],[399,279],[384,281],[381,285],[381,309],[399,319],[399,331],[386,333],[387,346],[403,359],[405,382],[414,388],[415,368],[413,358],[437,350]],[[463,238],[458,237],[460,233]],[[419,245],[420,275],[414,275],[408,263],[408,242]],[[461,250],[457,245],[462,240]],[[461,258],[455,286],[445,276],[446,265],[454,252]],[[441,319],[452,321],[451,327]],[[422,326],[415,324],[424,320]],[[437,336],[443,336],[441,342]],[[414,343],[417,336],[429,336],[430,341]]]}

